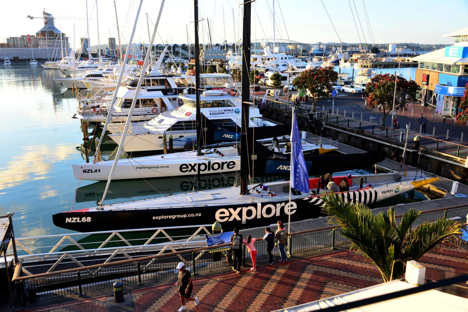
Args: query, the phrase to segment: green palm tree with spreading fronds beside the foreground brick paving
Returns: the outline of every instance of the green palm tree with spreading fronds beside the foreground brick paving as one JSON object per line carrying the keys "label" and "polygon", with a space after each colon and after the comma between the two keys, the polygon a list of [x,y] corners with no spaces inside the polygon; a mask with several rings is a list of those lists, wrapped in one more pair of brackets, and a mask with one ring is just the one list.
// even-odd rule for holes
{"label": "green palm tree with spreading fronds beside the foreground brick paving", "polygon": [[352,242],[350,250],[363,252],[371,259],[384,283],[400,278],[407,261],[418,260],[446,241],[458,243],[467,228],[445,218],[415,227],[412,224],[421,212],[414,209],[404,213],[397,222],[393,206],[387,213],[373,215],[366,205],[346,203],[333,193],[324,194],[322,199],[327,205],[325,212],[332,216],[329,223],[341,227],[340,234]]}

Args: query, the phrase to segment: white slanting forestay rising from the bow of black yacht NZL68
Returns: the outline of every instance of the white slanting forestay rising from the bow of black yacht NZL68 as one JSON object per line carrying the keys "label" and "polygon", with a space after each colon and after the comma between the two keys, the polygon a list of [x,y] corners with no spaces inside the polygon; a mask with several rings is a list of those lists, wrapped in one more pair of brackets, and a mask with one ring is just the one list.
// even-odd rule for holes
{"label": "white slanting forestay rising from the bow of black yacht NZL68", "polygon": [[[141,1],[143,1],[143,0],[141,0]],[[156,19],[156,23],[154,24],[153,35],[151,36],[151,42],[149,43],[150,46],[153,46],[153,43],[154,43],[154,36],[156,35],[156,31],[158,30],[159,21],[161,20],[161,14],[162,14],[162,8],[164,7],[164,1],[165,0],[161,1],[161,7],[159,8],[158,18]],[[138,8],[138,13],[140,12],[140,8],[141,8],[141,2],[140,2],[140,6]],[[137,22],[137,19],[135,20],[135,26],[133,27],[132,34],[135,31],[136,22]],[[117,166],[118,159],[120,158],[120,153],[122,152],[122,149],[124,148],[125,137],[127,135],[128,128],[130,128],[130,123],[132,121],[132,114],[133,114],[133,111],[135,109],[135,104],[137,103],[137,100],[138,100],[139,89],[140,89],[141,83],[143,82],[143,77],[145,77],[146,66],[148,65],[150,55],[151,55],[151,53],[146,53],[145,61],[143,62],[143,67],[141,68],[140,77],[138,78],[138,85],[135,88],[135,93],[133,94],[132,105],[130,106],[130,111],[128,112],[128,116],[127,116],[127,121],[125,122],[125,128],[122,131],[122,137],[120,139],[120,143],[119,143],[118,148],[117,148],[116,158],[114,159],[114,163],[112,163],[112,168],[110,169],[109,179],[107,180],[106,188],[104,189],[104,194],[102,194],[102,199],[99,202],[99,206],[104,205],[104,199],[106,197],[107,190],[109,189],[110,180],[112,179],[112,174],[114,173],[114,170],[115,170],[115,168]],[[126,55],[125,55],[125,57],[126,57]],[[124,69],[124,67],[122,67],[122,70],[123,69]],[[122,73],[122,71],[121,71],[121,73]]]}

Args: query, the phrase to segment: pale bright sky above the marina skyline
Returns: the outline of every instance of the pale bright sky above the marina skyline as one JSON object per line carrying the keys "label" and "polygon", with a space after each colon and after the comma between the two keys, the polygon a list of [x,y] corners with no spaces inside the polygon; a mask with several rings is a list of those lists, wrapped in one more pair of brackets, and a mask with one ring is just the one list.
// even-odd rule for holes
{"label": "pale bright sky above the marina skyline", "polygon": [[[242,29],[239,0],[198,0],[201,21],[200,43],[209,43],[209,22],[212,43],[234,42]],[[127,43],[135,21],[139,0],[117,0],[119,27]],[[252,40],[273,38],[273,0],[256,0],[252,4]],[[366,5],[368,20],[363,9]],[[453,38],[442,35],[468,27],[468,0],[275,0],[276,38],[317,43],[453,43]],[[137,24],[135,43],[148,43],[146,13],[156,21],[161,0],[144,0]],[[352,7],[352,11],[350,8]],[[17,0],[8,1],[8,10],[2,10],[0,41],[6,37],[35,34],[43,27],[42,11],[54,15],[55,26],[70,37],[70,44],[78,46],[86,36],[86,1]],[[97,0],[100,43],[107,38],[117,41],[116,16],[112,0]],[[223,14],[224,9],[224,14]],[[234,19],[233,19],[234,11]],[[352,12],[352,13],[351,13]],[[89,37],[91,45],[98,43],[96,1],[88,0]],[[353,19],[354,16],[354,19]],[[80,18],[80,19],[79,19]],[[153,24],[150,30],[153,30]],[[166,0],[154,43],[193,43],[193,1]],[[355,24],[356,21],[356,24]],[[334,27],[336,28],[336,32]],[[240,22],[241,24],[241,22]],[[370,29],[367,25],[370,25]],[[9,27],[6,27],[6,26]],[[361,29],[362,27],[362,29]],[[358,28],[358,30],[356,29]],[[187,31],[189,31],[187,39]],[[371,33],[372,32],[372,33]],[[337,33],[337,34],[336,34]],[[234,37],[235,36],[235,37]],[[76,41],[74,41],[76,37]],[[74,43],[75,42],[75,43]]]}

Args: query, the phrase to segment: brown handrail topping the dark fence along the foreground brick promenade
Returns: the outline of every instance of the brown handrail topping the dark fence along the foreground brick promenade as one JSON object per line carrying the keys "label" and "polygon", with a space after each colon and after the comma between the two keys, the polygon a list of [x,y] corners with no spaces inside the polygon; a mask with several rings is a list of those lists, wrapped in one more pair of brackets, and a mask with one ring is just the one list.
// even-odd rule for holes
{"label": "brown handrail topping the dark fence along the foreground brick promenade", "polygon": [[[462,207],[466,207],[466,206],[468,206],[468,204],[458,205],[458,206],[450,206],[450,207],[445,207],[445,208],[431,209],[431,210],[424,211],[421,214],[439,212],[439,211],[444,211],[444,210],[448,210],[448,209],[462,208]],[[402,217],[402,215],[395,216],[395,218],[401,218],[401,217]],[[323,231],[323,230],[334,229],[336,227],[338,227],[338,226],[321,227],[321,228],[315,228],[315,229],[304,230],[304,231],[299,231],[299,232],[293,232],[293,233],[289,233],[288,236],[295,236],[295,235],[306,234],[306,233],[311,233],[311,232],[319,232],[319,231]],[[263,240],[263,237],[256,238],[256,241],[262,241],[262,240]],[[73,272],[84,271],[84,270],[89,270],[89,269],[99,269],[99,268],[104,268],[104,267],[116,266],[116,265],[119,265],[119,264],[127,264],[127,263],[139,262],[139,261],[153,260],[153,259],[161,258],[161,257],[185,255],[185,254],[190,254],[190,253],[193,253],[193,252],[211,250],[211,249],[216,249],[216,248],[220,248],[220,247],[227,247],[227,246],[231,246],[231,243],[219,244],[219,245],[213,245],[213,246],[207,246],[207,247],[200,247],[200,248],[193,248],[193,249],[187,249],[187,250],[184,250],[182,252],[170,252],[170,253],[167,253],[167,254],[160,254],[160,255],[148,255],[148,256],[139,257],[139,258],[120,260],[120,261],[116,261],[116,262],[107,262],[107,263],[102,263],[102,264],[94,264],[94,265],[89,265],[89,266],[75,268],[75,269],[65,269],[65,270],[54,271],[54,272],[49,272],[49,273],[40,273],[40,274],[36,274],[36,275],[16,277],[16,278],[12,279],[12,282],[19,282],[19,281],[29,280],[29,279],[33,279],[33,278],[38,278],[38,277],[48,277],[48,276],[55,276],[55,275],[59,275],[59,274],[73,273]],[[16,272],[20,271],[21,267],[22,267],[22,262],[18,262],[17,268],[15,268],[14,277],[16,276]],[[18,273],[18,275],[19,275],[19,273]]]}

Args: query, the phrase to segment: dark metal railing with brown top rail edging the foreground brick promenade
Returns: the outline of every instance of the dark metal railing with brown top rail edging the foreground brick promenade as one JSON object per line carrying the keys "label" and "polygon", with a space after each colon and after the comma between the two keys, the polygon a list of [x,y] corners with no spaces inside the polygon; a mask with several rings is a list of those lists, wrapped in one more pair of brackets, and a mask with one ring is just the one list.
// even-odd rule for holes
{"label": "dark metal railing with brown top rail edging the foreground brick promenade", "polygon": [[[453,206],[423,212],[415,221],[414,226],[423,222],[432,222],[439,218],[448,218],[457,222],[465,222],[468,205]],[[396,216],[401,218],[402,216]],[[336,227],[323,227],[289,234],[289,255],[305,253],[323,248],[334,249],[351,243],[340,234]],[[258,238],[254,243],[257,249],[257,259],[267,258],[266,243]],[[69,294],[82,295],[85,291],[94,291],[108,288],[113,282],[119,280],[124,284],[140,284],[146,280],[162,277],[171,277],[178,274],[176,265],[183,261],[192,274],[201,270],[210,270],[230,266],[231,244],[222,244],[210,247],[193,248],[184,251],[149,255],[135,259],[116,262],[107,262],[57,272],[37,274],[34,276],[21,276],[21,259],[15,268],[12,281],[17,283],[22,293],[23,302],[61,297]],[[274,256],[279,258],[278,248],[273,249]],[[244,265],[251,259],[245,252]]]}

